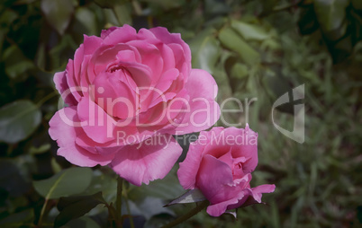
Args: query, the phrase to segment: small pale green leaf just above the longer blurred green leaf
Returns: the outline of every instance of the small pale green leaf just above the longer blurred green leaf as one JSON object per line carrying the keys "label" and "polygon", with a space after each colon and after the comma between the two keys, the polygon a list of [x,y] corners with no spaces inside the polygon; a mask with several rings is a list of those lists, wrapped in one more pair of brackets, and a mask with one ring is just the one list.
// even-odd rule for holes
{"label": "small pale green leaf just above the longer blurred green leaf", "polygon": [[264,40],[269,37],[267,31],[256,24],[249,24],[246,22],[231,21],[231,27],[238,31],[238,33],[247,40]]}

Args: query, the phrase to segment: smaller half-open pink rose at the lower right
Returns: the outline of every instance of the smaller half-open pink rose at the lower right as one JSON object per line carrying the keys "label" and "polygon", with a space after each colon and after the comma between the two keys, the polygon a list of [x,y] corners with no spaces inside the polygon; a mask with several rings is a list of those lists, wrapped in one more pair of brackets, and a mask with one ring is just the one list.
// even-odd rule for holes
{"label": "smaller half-open pink rose at the lower right", "polygon": [[258,164],[258,134],[249,129],[213,127],[190,144],[177,171],[184,189],[200,189],[210,201],[207,213],[220,216],[226,210],[261,203],[262,193],[275,185],[250,188],[251,172]]}

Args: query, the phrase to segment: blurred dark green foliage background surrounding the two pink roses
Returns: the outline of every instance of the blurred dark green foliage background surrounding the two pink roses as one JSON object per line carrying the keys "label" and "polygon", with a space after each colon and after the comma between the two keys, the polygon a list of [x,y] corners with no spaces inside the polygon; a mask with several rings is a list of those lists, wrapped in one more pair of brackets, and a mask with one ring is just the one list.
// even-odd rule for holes
{"label": "blurred dark green foliage background surrounding the two pink roses", "polygon": [[[67,170],[71,164],[56,156],[58,147],[48,135],[59,99],[52,76],[65,69],[83,34],[99,36],[124,23],[182,34],[193,67],[217,81],[219,103],[232,97],[244,105],[243,112],[222,117],[241,127],[248,121],[258,132],[259,164],[251,186],[276,184],[275,193],[263,197],[267,206],[240,208],[238,220],[203,212],[179,227],[362,227],[360,0],[2,0],[1,227],[35,227],[41,216],[43,227],[54,221],[65,227],[106,226],[102,200],[114,201],[115,175],[106,167]],[[276,99],[301,84],[303,144],[272,122]],[[230,101],[222,108],[237,105]],[[277,125],[290,131],[294,114],[292,103],[273,111]],[[149,186],[124,186],[123,211],[135,215],[136,227],[158,227],[192,207],[162,207],[184,192],[176,169]],[[83,198],[86,205],[59,200],[92,194]],[[79,210],[90,211],[76,215]]]}

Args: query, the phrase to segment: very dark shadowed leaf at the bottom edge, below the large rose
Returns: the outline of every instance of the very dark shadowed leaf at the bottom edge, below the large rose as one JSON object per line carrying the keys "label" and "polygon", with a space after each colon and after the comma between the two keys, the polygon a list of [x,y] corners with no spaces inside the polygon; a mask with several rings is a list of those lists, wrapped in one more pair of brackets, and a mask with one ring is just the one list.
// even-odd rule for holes
{"label": "very dark shadowed leaf at the bottom edge, below the large rose", "polygon": [[106,204],[102,192],[91,196],[60,197],[58,203],[59,215],[55,218],[54,227],[67,224],[70,220],[86,215],[99,204]]}

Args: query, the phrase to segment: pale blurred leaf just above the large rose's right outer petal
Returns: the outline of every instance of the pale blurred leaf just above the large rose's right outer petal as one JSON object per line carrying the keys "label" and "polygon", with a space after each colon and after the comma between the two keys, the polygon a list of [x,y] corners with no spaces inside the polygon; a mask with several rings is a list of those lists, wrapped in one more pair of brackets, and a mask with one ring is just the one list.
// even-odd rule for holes
{"label": "pale blurred leaf just above the large rose's right outer petal", "polygon": [[193,55],[193,67],[204,69],[210,74],[213,74],[214,66],[222,50],[219,41],[213,37],[213,31],[203,31],[189,42]]}

